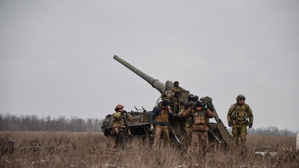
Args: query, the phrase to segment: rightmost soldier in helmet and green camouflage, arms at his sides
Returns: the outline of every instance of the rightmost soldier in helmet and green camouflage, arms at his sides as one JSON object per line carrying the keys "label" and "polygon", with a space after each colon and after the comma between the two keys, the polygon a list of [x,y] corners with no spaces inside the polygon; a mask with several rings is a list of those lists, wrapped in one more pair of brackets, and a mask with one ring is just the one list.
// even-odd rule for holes
{"label": "rightmost soldier in helmet and green camouflage, arms at his sides", "polygon": [[[247,135],[247,126],[249,128],[253,125],[253,114],[249,105],[245,104],[245,96],[238,95],[236,100],[237,103],[233,104],[229,108],[227,113],[227,121],[229,127],[232,127],[232,135],[234,136],[234,141],[236,147],[239,147],[239,137],[241,140],[240,152],[246,152],[246,135]],[[246,121],[246,119],[249,118]]]}

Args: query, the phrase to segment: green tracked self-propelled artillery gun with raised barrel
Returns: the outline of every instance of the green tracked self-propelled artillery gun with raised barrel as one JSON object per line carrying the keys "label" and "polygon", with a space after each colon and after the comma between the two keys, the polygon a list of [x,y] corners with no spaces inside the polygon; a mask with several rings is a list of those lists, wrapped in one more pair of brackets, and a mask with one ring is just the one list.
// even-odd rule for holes
{"label": "green tracked self-propelled artillery gun with raised barrel", "polygon": [[[125,67],[136,73],[139,77],[146,80],[153,88],[157,89],[160,92],[160,97],[156,101],[156,105],[158,102],[168,99],[169,95],[171,95],[171,88],[174,85],[174,83],[170,80],[167,80],[165,84],[160,82],[157,79],[154,79],[153,77],[150,77],[146,73],[143,73],[139,69],[135,68],[128,62],[124,61],[117,55],[114,55],[113,57],[115,60],[117,60],[119,63],[123,64]],[[212,98],[206,96],[199,99],[197,95],[190,94],[189,91],[181,90],[179,93],[179,97],[176,98],[176,101],[178,105],[175,105],[175,99],[170,98],[171,101],[169,102],[169,105],[171,106],[172,111],[175,114],[175,117],[171,120],[169,120],[169,134],[170,137],[173,137],[172,139],[177,139],[176,142],[187,142],[187,135],[185,131],[185,123],[186,118],[180,118],[178,117],[178,113],[180,109],[182,108],[182,105],[186,102],[197,102],[201,101],[203,105],[205,105],[208,109],[210,109],[215,117],[216,123],[210,123],[209,125],[209,141],[219,141],[221,143],[226,144],[231,140],[231,136],[229,135],[228,131],[226,130],[226,127],[222,123],[222,120],[218,117],[218,114],[214,108],[214,105],[212,103]],[[154,105],[153,105],[154,106]],[[143,108],[143,107],[142,107]],[[151,115],[152,111],[146,111],[144,108],[141,111],[138,111],[137,108],[136,112],[131,111],[129,112],[132,116],[132,121],[128,122],[128,127],[130,128],[130,132],[132,135],[139,136],[142,139],[146,140],[150,137],[151,133],[149,131],[150,129],[150,123],[149,123],[149,116]],[[103,125],[102,125],[102,132],[105,136],[111,135],[111,130],[113,127],[113,121],[112,121],[112,114],[109,114],[106,116]],[[175,136],[176,135],[176,136]]]}

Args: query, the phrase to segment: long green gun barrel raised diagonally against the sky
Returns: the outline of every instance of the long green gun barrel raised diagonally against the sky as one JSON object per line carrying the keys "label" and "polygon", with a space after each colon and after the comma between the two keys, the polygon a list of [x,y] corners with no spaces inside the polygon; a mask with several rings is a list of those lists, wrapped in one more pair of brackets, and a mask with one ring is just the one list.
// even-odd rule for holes
{"label": "long green gun barrel raised diagonally against the sky", "polygon": [[114,55],[113,58],[115,60],[117,60],[119,63],[123,64],[128,69],[130,69],[131,71],[133,71],[134,73],[136,73],[139,77],[142,77],[142,79],[146,80],[150,85],[153,86],[153,88],[160,91],[161,95],[166,96],[166,95],[168,95],[168,93],[170,93],[171,86],[173,86],[173,82],[171,82],[169,80],[166,82],[166,84],[169,84],[169,87],[170,87],[169,88],[169,87],[167,87],[166,84],[163,84],[159,80],[148,76],[146,73],[143,73],[141,70],[137,69],[135,66],[132,66],[131,64],[129,64],[125,60],[121,59],[117,55]]}

